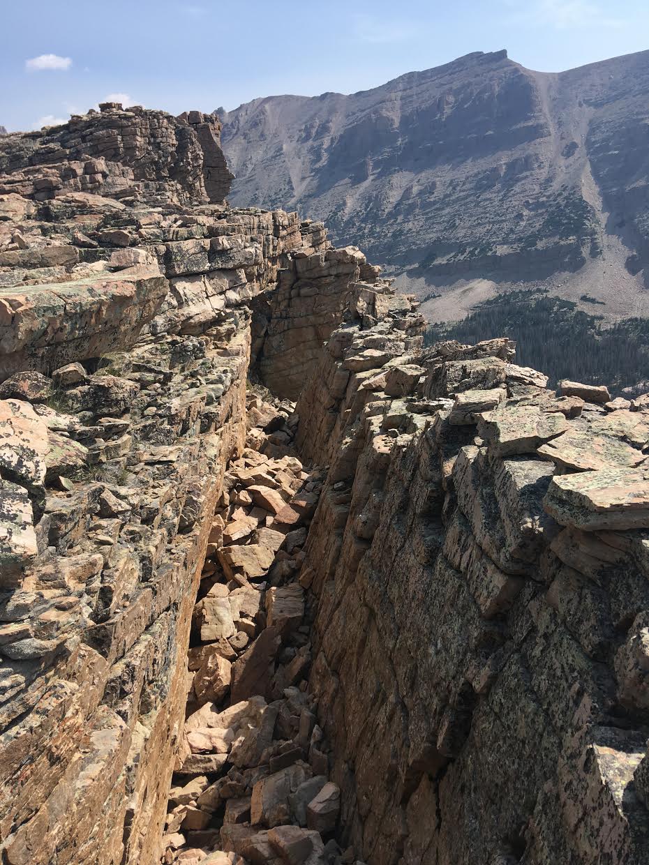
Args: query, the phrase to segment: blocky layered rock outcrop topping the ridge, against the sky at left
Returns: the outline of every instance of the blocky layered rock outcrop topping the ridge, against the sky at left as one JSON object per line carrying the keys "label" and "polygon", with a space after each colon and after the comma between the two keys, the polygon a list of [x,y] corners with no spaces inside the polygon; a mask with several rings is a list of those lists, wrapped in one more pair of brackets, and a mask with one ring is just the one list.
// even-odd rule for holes
{"label": "blocky layered rock outcrop topping the ridge, against the sky at left", "polygon": [[106,102],[39,132],[3,136],[0,194],[48,201],[66,192],[180,204],[223,202],[232,174],[212,115],[180,117]]}

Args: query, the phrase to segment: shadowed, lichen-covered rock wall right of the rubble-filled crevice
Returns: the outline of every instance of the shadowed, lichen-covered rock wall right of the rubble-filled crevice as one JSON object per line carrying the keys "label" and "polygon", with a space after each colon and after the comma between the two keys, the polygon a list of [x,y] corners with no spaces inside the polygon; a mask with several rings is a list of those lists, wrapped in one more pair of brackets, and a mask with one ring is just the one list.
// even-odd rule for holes
{"label": "shadowed, lichen-covered rock wall right of the rubble-filled crevice", "polygon": [[303,574],[345,841],[376,863],[644,862],[649,414],[557,396],[507,340],[407,335],[344,325],[297,406],[331,464]]}

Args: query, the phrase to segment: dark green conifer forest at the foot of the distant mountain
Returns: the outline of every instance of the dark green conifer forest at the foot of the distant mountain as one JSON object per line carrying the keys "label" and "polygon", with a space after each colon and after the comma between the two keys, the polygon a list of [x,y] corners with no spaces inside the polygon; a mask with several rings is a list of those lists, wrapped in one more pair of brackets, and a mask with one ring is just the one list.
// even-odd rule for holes
{"label": "dark green conifer forest at the foot of the distant mountain", "polygon": [[516,362],[549,375],[550,385],[570,378],[619,393],[647,378],[649,318],[626,318],[611,327],[602,321],[546,290],[508,292],[479,304],[462,321],[432,324],[424,339],[427,345],[442,339],[472,344],[509,336],[517,343]]}

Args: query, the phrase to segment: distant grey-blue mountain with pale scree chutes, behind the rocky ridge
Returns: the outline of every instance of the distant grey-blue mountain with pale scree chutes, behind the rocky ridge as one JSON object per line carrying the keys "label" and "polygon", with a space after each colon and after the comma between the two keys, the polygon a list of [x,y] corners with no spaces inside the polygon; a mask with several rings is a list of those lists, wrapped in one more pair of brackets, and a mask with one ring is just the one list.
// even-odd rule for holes
{"label": "distant grey-blue mountain with pale scree chutes, behind the rocky ridge", "polygon": [[222,121],[231,202],[325,220],[433,320],[521,284],[649,314],[649,51],[558,74],[476,52]]}

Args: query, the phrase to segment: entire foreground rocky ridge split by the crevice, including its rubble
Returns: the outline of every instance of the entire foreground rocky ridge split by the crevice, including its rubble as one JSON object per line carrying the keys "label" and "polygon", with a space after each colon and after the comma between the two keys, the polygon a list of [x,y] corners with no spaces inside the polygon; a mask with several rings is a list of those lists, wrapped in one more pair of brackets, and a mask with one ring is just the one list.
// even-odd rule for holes
{"label": "entire foreground rocky ridge split by the crevice, including its rubble", "polygon": [[3,865],[649,861],[649,394],[423,348],[220,131],[0,142]]}

